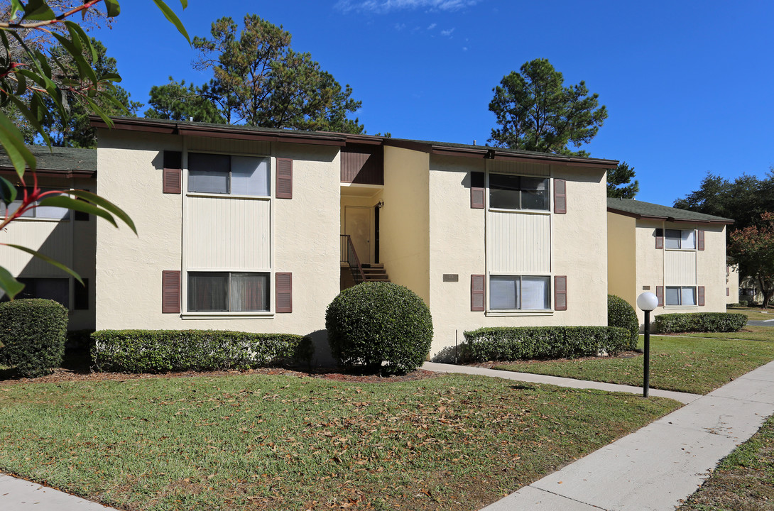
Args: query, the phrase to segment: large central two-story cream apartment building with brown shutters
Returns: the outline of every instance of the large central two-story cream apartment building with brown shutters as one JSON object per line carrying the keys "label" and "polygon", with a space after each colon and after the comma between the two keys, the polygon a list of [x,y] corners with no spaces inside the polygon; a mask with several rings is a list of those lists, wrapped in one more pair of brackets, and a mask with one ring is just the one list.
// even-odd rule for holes
{"label": "large central two-story cream apartment building with brown shutters", "polygon": [[98,224],[98,329],[321,339],[351,251],[430,306],[433,355],[482,326],[607,324],[605,175],[614,160],[136,118],[116,118],[113,129],[93,123],[99,192],[139,232]]}

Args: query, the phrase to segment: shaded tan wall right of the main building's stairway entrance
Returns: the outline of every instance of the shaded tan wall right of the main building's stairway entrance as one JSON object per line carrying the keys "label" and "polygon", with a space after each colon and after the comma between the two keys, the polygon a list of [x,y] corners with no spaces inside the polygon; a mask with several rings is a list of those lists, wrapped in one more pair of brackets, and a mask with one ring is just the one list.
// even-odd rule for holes
{"label": "shaded tan wall right of the main building's stairway entrance", "polygon": [[428,166],[429,155],[424,152],[385,147],[379,260],[392,282],[431,305]]}

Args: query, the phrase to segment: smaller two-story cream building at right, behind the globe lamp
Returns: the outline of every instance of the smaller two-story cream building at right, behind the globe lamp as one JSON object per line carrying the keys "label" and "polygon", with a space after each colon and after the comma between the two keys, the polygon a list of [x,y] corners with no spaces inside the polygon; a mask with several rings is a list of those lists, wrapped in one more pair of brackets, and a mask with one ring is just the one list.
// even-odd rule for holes
{"label": "smaller two-story cream building at right, behind the globe lamp", "polygon": [[734,220],[633,199],[608,199],[608,290],[635,307],[637,296],[659,298],[654,315],[725,312],[734,296],[727,281],[727,225]]}

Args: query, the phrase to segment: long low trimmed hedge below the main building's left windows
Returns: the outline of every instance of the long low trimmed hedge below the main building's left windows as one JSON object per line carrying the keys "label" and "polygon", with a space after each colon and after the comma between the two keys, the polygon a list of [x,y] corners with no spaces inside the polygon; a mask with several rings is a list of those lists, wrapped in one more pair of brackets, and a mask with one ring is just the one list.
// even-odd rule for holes
{"label": "long low trimmed hedge below the main building's left windows", "polygon": [[101,330],[91,356],[101,371],[230,370],[310,363],[311,339],[222,330]]}

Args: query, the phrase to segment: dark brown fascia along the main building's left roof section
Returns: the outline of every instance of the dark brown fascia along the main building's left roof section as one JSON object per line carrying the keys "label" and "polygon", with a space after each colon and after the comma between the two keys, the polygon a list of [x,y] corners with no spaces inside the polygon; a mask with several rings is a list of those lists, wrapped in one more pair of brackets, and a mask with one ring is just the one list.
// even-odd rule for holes
{"label": "dark brown fascia along the main building's left roof section", "polygon": [[[89,118],[93,128],[111,128],[101,118],[91,116]],[[289,142],[293,144],[310,145],[334,145],[341,147],[346,143],[347,138],[344,135],[309,135],[298,134],[291,131],[287,133],[275,133],[258,131],[252,129],[243,129],[231,125],[221,127],[215,126],[197,126],[196,124],[182,124],[174,121],[160,124],[143,119],[112,119],[113,129],[123,131],[145,131],[149,133],[163,133],[166,135],[189,135],[211,138],[232,138],[238,140],[255,140],[269,142]]]}

